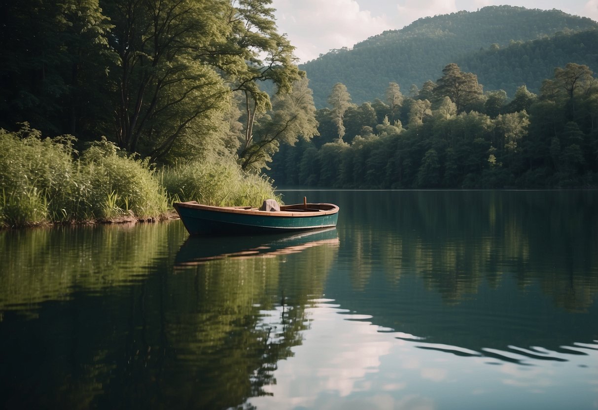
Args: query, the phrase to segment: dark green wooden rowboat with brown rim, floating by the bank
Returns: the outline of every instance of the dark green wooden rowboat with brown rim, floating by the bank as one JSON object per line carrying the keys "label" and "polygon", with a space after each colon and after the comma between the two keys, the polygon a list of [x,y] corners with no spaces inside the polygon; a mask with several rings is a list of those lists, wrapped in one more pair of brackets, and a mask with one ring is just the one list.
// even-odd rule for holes
{"label": "dark green wooden rowboat with brown rim, floating by the bank", "polygon": [[264,234],[316,230],[335,227],[338,206],[334,204],[303,204],[280,206],[280,210],[265,211],[252,207],[218,207],[195,201],[174,204],[176,212],[191,235],[202,234]]}

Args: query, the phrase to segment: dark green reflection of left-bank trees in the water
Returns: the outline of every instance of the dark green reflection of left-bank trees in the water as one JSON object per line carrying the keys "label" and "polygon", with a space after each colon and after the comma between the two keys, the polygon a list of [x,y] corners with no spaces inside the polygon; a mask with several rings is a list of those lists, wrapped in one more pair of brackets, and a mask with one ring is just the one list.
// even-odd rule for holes
{"label": "dark green reflection of left-bank trees in the water", "polygon": [[301,344],[338,251],[335,230],[194,255],[179,222],[127,229],[0,232],[7,408],[242,405]]}

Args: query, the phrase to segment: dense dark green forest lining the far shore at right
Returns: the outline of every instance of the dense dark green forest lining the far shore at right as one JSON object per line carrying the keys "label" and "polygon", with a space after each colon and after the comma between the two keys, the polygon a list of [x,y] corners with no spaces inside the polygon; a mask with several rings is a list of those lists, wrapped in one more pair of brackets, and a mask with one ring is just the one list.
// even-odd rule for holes
{"label": "dense dark green forest lining the far shore at right", "polygon": [[344,84],[318,110],[319,137],[285,146],[279,185],[340,188],[562,188],[598,185],[598,81],[588,66],[554,69],[536,95],[483,92],[447,65],[413,97],[396,82],[356,105]]}

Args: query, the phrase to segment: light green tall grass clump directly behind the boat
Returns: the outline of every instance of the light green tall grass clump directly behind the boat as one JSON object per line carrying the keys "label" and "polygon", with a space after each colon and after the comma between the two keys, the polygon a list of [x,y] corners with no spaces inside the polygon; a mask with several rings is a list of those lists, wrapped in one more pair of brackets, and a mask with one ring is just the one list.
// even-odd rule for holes
{"label": "light green tall grass clump directly behind the boat", "polygon": [[169,197],[215,206],[260,206],[267,198],[280,200],[267,178],[246,174],[234,161],[178,163],[161,172]]}

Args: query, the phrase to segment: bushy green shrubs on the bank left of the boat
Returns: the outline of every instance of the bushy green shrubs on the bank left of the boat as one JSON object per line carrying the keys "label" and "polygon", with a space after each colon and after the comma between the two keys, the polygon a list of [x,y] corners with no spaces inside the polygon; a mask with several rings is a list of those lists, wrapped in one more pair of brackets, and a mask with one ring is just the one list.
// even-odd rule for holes
{"label": "bushy green shrubs on the bank left of the boat", "polygon": [[28,124],[0,131],[0,225],[157,218],[163,188],[147,161],[112,143],[94,143],[75,159],[70,136],[41,138]]}

